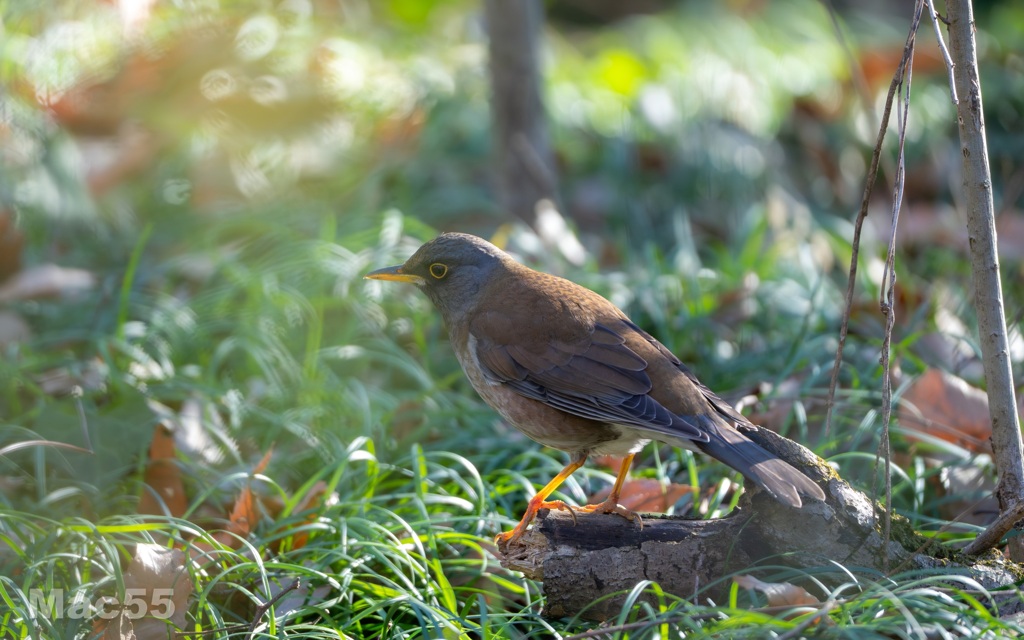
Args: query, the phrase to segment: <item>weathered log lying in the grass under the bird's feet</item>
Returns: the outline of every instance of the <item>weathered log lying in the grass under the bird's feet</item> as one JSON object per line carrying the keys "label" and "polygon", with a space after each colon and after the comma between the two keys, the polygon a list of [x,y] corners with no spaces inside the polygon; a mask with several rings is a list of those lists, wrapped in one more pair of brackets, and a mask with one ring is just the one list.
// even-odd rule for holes
{"label": "weathered log lying in the grass under the bird's feet", "polygon": [[[682,598],[721,603],[728,595],[728,579],[749,572],[761,560],[818,569],[815,577],[824,582],[822,567],[827,570],[835,562],[888,572],[880,508],[867,496],[796,442],[765,429],[749,435],[817,481],[825,489],[825,502],[791,509],[748,484],[739,507],[713,520],[644,516],[640,526],[613,514],[573,519],[564,512],[542,511],[517,544],[501,550],[502,564],[543,581],[546,615],[580,614],[599,621],[616,615],[625,593],[643,580],[657,582],[665,592]],[[983,563],[968,560],[919,536],[905,518],[893,516],[893,541],[888,545],[892,572],[941,569],[995,588],[1014,584],[1021,570],[997,553]],[[849,579],[845,572],[835,575],[837,583]],[[805,587],[814,593],[814,585]],[[999,612],[1012,612],[1014,602],[1019,602],[1015,591],[999,603]]]}

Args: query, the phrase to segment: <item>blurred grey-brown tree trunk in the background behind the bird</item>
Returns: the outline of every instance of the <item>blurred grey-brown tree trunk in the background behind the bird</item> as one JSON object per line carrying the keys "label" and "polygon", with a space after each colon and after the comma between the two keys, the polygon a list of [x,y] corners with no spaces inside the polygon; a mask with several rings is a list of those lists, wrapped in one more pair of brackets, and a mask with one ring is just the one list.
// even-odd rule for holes
{"label": "blurred grey-brown tree trunk in the background behind the bird", "polygon": [[484,0],[490,111],[502,208],[534,226],[537,203],[555,200],[556,179],[541,90],[541,0]]}

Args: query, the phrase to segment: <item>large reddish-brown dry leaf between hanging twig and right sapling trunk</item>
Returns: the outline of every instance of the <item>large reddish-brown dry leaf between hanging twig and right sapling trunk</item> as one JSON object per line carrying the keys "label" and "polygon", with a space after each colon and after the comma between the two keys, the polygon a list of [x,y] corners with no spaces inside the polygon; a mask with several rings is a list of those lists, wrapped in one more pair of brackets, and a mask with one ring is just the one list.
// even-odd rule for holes
{"label": "large reddish-brown dry leaf between hanging twig and right sapling trunk", "polygon": [[988,397],[952,374],[930,369],[919,376],[903,393],[898,416],[909,429],[974,453],[992,451]]}

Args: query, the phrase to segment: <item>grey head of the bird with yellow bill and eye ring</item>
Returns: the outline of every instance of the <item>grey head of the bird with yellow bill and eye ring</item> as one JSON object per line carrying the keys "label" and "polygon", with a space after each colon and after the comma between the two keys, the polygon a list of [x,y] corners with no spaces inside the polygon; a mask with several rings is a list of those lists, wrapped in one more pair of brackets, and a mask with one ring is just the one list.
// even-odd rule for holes
{"label": "grey head of the bird with yellow bill and eye ring", "polygon": [[482,238],[441,233],[420,247],[404,264],[371,271],[366,278],[416,285],[451,326],[473,307],[488,279],[509,263],[515,261]]}

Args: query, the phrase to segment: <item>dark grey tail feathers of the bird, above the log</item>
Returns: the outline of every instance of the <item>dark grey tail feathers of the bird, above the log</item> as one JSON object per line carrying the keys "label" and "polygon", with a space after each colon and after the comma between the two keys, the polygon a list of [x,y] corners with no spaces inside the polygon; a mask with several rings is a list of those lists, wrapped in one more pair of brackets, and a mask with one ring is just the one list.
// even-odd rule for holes
{"label": "dark grey tail feathers of the bird, above the log", "polygon": [[709,439],[707,442],[692,442],[691,446],[695,445],[712,458],[739,471],[780,503],[799,508],[803,505],[801,494],[815,500],[825,499],[821,487],[809,477],[762,449],[731,425],[722,425],[714,419],[708,419],[700,421],[700,427],[708,433]]}

